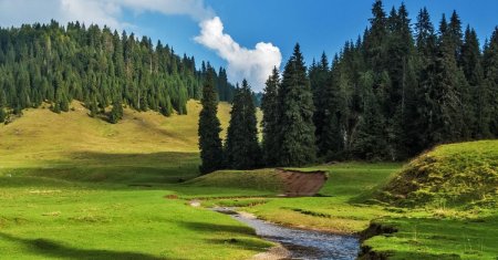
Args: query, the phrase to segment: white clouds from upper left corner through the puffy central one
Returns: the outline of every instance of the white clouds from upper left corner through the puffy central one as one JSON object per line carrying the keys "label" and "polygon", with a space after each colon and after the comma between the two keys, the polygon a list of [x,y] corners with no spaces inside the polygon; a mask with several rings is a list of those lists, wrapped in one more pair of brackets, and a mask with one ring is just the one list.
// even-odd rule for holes
{"label": "white clouds from upper left corner through the puffy central one", "polygon": [[224,31],[221,19],[204,0],[0,0],[0,27],[55,19],[62,24],[77,20],[117,30],[134,29],[124,19],[124,9],[190,17],[200,27],[195,41],[216,51],[227,62],[231,82],[246,77],[260,91],[273,66],[280,66],[282,56],[277,46],[266,42],[257,43],[253,49],[241,46]]}

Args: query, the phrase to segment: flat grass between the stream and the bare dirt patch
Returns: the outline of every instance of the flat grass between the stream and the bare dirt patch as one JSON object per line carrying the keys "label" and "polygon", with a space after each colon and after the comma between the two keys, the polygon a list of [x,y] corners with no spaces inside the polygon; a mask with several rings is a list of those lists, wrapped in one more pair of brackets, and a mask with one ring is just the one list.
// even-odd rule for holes
{"label": "flat grass between the stream and the bare dirt patch", "polygon": [[400,169],[400,164],[344,163],[304,168],[326,170],[329,179],[321,197],[283,198],[248,208],[267,220],[295,227],[352,233],[370,220],[387,215],[383,206],[359,202]]}

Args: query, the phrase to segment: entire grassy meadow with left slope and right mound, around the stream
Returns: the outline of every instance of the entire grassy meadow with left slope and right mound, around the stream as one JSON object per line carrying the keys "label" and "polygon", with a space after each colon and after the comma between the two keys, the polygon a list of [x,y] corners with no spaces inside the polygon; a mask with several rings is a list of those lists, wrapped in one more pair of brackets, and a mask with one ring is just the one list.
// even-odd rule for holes
{"label": "entire grassy meadow with left slope and right mound, around the stream", "polygon": [[[61,115],[29,110],[0,125],[0,259],[247,259],[272,246],[228,216],[188,206],[191,199],[205,207],[242,207],[301,228],[396,230],[364,233],[375,235],[365,237],[364,250],[376,257],[498,257],[495,179],[488,179],[484,196],[464,196],[459,204],[438,196],[456,183],[442,183],[438,190],[413,178],[424,190],[418,193],[433,194],[428,200],[409,195],[419,189],[393,188],[407,179],[398,176],[413,176],[417,167],[464,177],[475,176],[476,168],[490,169],[479,171],[488,176],[497,167],[496,141],[443,146],[405,167],[341,163],[302,168],[329,173],[320,196],[279,198],[272,169],[194,179],[197,102],[188,103],[186,116],[125,110],[116,125],[89,117],[77,103],[72,106]],[[227,104],[220,104],[219,116],[226,128]],[[464,157],[455,160],[455,155]],[[468,186],[458,190],[465,195]],[[400,204],[401,195],[413,202]]]}

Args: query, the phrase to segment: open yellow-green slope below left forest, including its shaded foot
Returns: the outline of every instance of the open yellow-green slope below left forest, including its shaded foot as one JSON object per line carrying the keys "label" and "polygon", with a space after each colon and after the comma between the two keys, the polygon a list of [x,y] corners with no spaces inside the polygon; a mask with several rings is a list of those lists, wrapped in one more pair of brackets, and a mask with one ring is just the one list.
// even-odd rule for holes
{"label": "open yellow-green slope below left forest, including its shaded foot", "polygon": [[[198,101],[188,102],[188,115],[170,117],[125,108],[117,124],[90,117],[79,102],[71,107],[61,114],[30,108],[11,124],[1,124],[0,175],[113,183],[177,181],[198,175]],[[224,129],[229,111],[228,103],[220,103]]]}

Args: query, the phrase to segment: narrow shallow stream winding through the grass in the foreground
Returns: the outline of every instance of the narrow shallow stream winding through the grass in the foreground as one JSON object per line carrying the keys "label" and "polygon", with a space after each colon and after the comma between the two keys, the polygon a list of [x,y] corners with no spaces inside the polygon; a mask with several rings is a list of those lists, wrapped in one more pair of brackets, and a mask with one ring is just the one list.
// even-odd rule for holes
{"label": "narrow shallow stream winding through the grass in the foreground", "polygon": [[241,216],[230,209],[215,210],[229,214],[232,218],[256,229],[258,236],[281,243],[290,251],[291,259],[350,260],[356,259],[360,251],[360,241],[353,236],[288,228]]}

